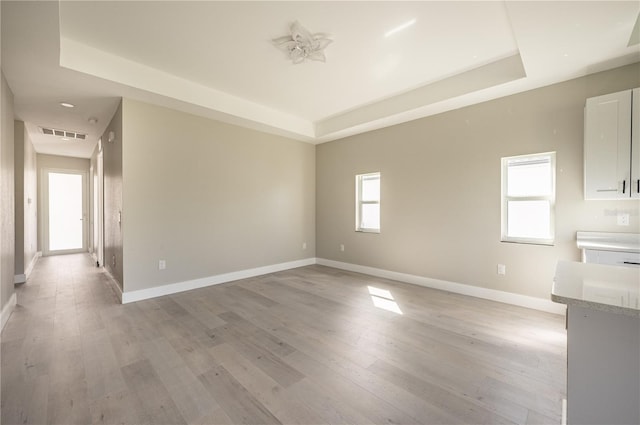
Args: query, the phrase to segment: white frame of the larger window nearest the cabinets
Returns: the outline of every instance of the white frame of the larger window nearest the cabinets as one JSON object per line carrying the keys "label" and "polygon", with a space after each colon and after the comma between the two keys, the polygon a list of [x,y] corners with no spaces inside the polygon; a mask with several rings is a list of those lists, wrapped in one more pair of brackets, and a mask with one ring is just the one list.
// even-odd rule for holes
{"label": "white frame of the larger window nearest the cabinets", "polygon": [[[551,172],[551,194],[545,196],[507,196],[507,168],[510,160],[523,160],[528,158],[534,160],[535,158],[548,157],[550,163]],[[543,152],[529,155],[517,155],[502,158],[502,229],[501,229],[501,241],[502,242],[515,242],[525,244],[536,245],[553,245],[555,241],[555,205],[556,205],[556,153],[555,152]],[[551,211],[549,212],[549,238],[530,238],[521,236],[509,236],[508,232],[508,205],[509,201],[549,201]]]}

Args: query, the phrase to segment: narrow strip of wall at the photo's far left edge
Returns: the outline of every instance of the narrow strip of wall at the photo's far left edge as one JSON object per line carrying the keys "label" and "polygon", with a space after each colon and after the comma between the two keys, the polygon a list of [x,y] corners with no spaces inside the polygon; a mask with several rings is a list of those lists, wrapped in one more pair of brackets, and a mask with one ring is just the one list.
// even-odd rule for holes
{"label": "narrow strip of wall at the photo's far left edge", "polygon": [[4,310],[14,291],[14,117],[13,93],[1,72],[0,80],[0,306]]}

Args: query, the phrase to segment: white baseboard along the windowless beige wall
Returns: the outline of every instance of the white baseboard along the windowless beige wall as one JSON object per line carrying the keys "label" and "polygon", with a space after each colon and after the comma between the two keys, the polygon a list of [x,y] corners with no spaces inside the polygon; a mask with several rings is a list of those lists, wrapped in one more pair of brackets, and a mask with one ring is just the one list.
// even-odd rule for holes
{"label": "white baseboard along the windowless beige wall", "polygon": [[272,264],[264,267],[256,267],[253,269],[240,270],[237,272],[224,273],[200,279],[188,280],[184,282],[171,283],[168,285],[155,286],[148,289],[139,289],[137,291],[124,291],[122,293],[122,304],[142,301],[149,298],[161,297],[164,295],[176,294],[178,292],[189,291],[192,289],[204,288],[206,286],[218,285],[220,283],[232,282],[234,280],[247,279],[250,277],[261,276],[269,273],[280,272],[283,270],[295,269],[297,267],[310,266],[316,264],[315,258],[305,258],[304,260],[289,261],[286,263]]}

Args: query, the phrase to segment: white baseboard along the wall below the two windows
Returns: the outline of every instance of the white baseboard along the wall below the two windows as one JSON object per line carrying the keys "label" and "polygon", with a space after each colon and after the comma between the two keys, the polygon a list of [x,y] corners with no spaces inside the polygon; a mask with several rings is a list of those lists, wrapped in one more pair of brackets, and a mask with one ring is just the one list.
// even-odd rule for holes
{"label": "white baseboard along the wall below the two windows", "polygon": [[440,289],[442,291],[454,292],[456,294],[469,295],[476,298],[483,298],[486,300],[498,301],[501,303],[517,305],[534,310],[546,311],[548,313],[564,314],[566,310],[566,307],[563,304],[554,303],[550,299],[545,300],[542,298],[530,297],[527,295],[514,294],[512,292],[481,288],[479,286],[449,282],[446,280],[431,279],[423,276],[376,269],[374,267],[360,266],[358,264],[326,260],[324,258],[318,258],[316,263],[336,269],[364,273],[371,276],[382,277],[385,279],[398,280],[400,282],[425,286],[427,288]]}

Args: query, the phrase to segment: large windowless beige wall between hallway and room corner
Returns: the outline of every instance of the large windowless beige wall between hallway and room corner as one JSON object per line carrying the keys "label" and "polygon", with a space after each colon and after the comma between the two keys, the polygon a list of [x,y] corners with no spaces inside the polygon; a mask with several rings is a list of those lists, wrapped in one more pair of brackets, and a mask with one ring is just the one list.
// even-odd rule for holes
{"label": "large windowless beige wall between hallway and room corner", "polygon": [[123,135],[125,292],[315,256],[313,145],[128,99]]}

